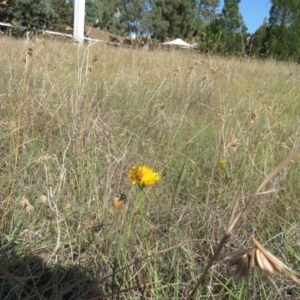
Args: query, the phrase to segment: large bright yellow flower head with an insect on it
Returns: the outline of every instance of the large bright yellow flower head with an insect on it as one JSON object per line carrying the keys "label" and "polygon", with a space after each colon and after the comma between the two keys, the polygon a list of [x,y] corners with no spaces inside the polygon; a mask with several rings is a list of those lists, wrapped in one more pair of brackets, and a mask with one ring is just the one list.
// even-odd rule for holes
{"label": "large bright yellow flower head with an insect on it", "polygon": [[156,184],[161,176],[147,166],[135,166],[130,169],[128,177],[131,178],[132,184],[143,187]]}

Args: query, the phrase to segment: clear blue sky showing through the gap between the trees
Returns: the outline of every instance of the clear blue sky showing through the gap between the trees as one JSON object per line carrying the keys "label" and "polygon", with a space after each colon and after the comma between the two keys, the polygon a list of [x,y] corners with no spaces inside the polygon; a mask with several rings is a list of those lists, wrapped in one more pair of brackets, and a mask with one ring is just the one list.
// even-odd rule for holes
{"label": "clear blue sky showing through the gap between the trees", "polygon": [[[221,0],[220,11],[223,6],[224,1]],[[240,13],[249,33],[254,33],[263,24],[265,17],[269,18],[270,8],[270,0],[241,0]]]}

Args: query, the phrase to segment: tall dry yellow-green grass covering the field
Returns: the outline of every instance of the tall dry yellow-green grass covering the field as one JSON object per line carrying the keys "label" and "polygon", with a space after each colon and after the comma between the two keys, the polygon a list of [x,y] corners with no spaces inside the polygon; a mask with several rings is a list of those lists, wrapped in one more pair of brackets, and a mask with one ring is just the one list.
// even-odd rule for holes
{"label": "tall dry yellow-green grass covering the field", "polygon": [[[297,66],[1,43],[1,299],[186,299],[237,191],[241,211],[299,145]],[[162,175],[142,194],[128,178],[137,164]],[[253,234],[299,270],[298,174],[296,158],[257,196],[222,257]],[[115,210],[119,193],[127,202]],[[251,297],[299,297],[286,276],[274,281],[251,281]],[[247,299],[247,282],[218,261],[197,297]]]}

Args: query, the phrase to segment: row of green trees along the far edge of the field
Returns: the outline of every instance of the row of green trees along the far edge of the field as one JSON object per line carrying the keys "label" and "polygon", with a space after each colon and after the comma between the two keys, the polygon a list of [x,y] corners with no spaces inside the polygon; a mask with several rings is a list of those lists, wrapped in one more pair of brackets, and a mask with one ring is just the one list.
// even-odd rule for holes
{"label": "row of green trees along the far edge of the field", "polygon": [[[300,0],[270,0],[269,18],[247,32],[241,0],[86,0],[85,24],[121,36],[150,36],[154,43],[182,38],[219,55],[296,59],[300,49]],[[7,0],[0,21],[65,32],[74,0]],[[255,16],[254,16],[255,17]],[[17,32],[17,31],[16,31]]]}

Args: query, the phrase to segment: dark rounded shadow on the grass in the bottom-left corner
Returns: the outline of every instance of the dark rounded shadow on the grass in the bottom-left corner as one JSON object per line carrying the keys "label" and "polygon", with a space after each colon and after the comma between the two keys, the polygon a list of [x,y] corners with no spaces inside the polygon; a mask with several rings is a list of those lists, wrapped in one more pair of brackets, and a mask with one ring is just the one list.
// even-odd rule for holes
{"label": "dark rounded shadow on the grass in the bottom-left corner", "polygon": [[[110,277],[110,276],[108,276]],[[36,255],[14,253],[12,242],[0,248],[0,299],[90,299],[103,294],[96,280],[80,265],[48,266]]]}

